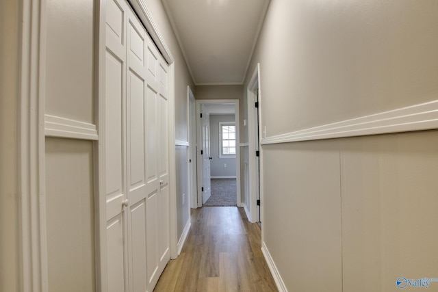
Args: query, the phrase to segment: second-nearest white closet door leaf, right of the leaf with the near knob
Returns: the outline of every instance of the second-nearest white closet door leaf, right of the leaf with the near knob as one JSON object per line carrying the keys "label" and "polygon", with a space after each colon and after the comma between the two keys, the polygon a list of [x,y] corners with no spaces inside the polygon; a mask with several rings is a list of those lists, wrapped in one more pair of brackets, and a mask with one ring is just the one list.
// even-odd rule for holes
{"label": "second-nearest white closet door leaf, right of the leaf with the near knob", "polygon": [[146,291],[146,31],[126,15],[129,290]]}

